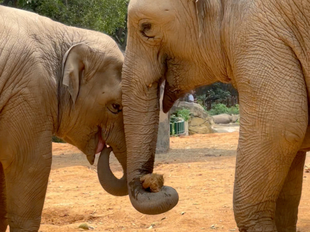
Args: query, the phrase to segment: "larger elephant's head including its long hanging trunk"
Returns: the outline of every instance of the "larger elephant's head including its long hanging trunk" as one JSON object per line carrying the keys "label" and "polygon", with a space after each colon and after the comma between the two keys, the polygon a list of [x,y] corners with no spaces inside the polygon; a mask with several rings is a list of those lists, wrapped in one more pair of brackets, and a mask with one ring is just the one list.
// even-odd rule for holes
{"label": "larger elephant's head including its long hanging trunk", "polygon": [[[221,65],[224,56],[220,55],[219,2],[131,0],[129,3],[122,103],[129,195],[141,213],[163,213],[178,201],[172,189],[148,193],[139,183],[141,175],[153,171],[161,83],[165,80],[166,113],[180,96],[202,83],[229,81],[226,70],[221,69],[225,66]],[[201,33],[206,28],[208,34]]]}

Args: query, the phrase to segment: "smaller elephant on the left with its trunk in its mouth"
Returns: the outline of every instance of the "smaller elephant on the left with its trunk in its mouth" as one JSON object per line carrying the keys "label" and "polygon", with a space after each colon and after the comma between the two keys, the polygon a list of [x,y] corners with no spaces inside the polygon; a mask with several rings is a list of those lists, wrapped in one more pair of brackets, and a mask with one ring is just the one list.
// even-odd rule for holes
{"label": "smaller elephant on the left with its trunk in its mouth", "polygon": [[117,180],[108,164],[112,148],[126,177],[122,64],[107,35],[0,6],[0,232],[7,224],[11,232],[38,231],[53,134],[91,164],[103,150],[100,183],[128,194],[126,178]]}

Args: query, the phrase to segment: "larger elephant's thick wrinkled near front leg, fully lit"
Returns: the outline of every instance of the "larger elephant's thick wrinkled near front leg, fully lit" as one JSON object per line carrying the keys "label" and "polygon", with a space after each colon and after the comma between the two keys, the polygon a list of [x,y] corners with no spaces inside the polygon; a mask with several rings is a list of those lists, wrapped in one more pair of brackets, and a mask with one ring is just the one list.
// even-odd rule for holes
{"label": "larger elephant's thick wrinkled near front leg, fully lit", "polygon": [[308,126],[307,90],[292,50],[258,38],[234,65],[240,133],[233,209],[239,231],[278,232],[276,202]]}

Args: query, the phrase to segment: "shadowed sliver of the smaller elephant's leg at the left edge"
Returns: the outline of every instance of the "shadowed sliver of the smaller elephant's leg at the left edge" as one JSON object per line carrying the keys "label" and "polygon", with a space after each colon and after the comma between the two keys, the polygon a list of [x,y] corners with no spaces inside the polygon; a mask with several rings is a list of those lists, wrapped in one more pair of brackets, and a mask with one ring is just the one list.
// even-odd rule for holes
{"label": "shadowed sliver of the smaller elephant's leg at the left edge", "polygon": [[5,178],[2,163],[0,162],[0,232],[7,230],[7,199]]}

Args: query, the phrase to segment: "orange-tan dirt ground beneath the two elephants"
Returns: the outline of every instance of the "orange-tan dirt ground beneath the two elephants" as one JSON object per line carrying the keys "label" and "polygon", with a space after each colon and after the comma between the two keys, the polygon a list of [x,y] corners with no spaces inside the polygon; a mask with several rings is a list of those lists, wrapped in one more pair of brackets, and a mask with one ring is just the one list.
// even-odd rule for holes
{"label": "orange-tan dirt ground beneath the two elephants", "polygon": [[[98,181],[96,165],[69,144],[53,144],[53,165],[42,213],[42,232],[80,231],[238,231],[232,211],[232,191],[238,132],[191,135],[170,139],[170,152],[156,155],[154,172],[179,193],[175,208],[160,215],[143,215],[129,197],[107,194]],[[96,158],[95,163],[97,162]],[[111,169],[122,169],[112,155]],[[310,164],[307,156],[306,164]],[[310,178],[304,173],[298,230],[310,230]],[[7,230],[8,232],[8,230]]]}

